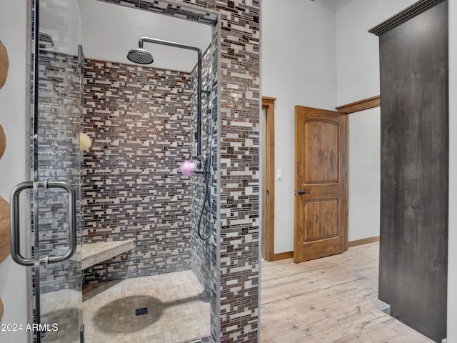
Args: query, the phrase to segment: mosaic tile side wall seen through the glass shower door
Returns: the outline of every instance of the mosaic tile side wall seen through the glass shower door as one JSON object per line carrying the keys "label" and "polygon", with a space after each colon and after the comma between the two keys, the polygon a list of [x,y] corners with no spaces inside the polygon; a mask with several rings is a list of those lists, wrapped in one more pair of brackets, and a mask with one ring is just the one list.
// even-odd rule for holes
{"label": "mosaic tile side wall seen through the glass shower door", "polygon": [[[40,51],[38,172],[41,180],[68,182],[80,204],[81,69],[75,56]],[[63,254],[69,247],[68,194],[39,190],[40,257]],[[81,239],[81,218],[76,218]],[[41,266],[42,293],[81,288],[81,264],[74,261]]]}

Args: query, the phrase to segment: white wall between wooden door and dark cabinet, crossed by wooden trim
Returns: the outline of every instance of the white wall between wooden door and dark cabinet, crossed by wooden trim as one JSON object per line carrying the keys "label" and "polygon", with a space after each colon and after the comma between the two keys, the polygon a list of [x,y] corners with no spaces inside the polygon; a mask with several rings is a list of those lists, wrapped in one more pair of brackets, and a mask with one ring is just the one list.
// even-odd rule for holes
{"label": "white wall between wooden door and dark cabinet, crossed by wooden trim", "polygon": [[[368,29],[416,0],[338,0],[337,104],[379,94],[379,39]],[[379,236],[380,111],[349,114],[349,242]]]}

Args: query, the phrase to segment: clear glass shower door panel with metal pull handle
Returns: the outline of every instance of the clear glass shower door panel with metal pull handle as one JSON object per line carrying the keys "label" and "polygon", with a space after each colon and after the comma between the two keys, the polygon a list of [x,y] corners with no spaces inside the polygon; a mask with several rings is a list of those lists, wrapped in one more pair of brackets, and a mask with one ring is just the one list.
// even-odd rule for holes
{"label": "clear glass shower door panel with metal pull handle", "polygon": [[[34,2],[39,57],[32,168],[38,206],[32,220],[34,253],[40,261],[34,269],[34,292],[41,323],[36,338],[42,343],[76,343],[82,328],[81,24],[78,1]],[[78,247],[76,253],[71,247]]]}

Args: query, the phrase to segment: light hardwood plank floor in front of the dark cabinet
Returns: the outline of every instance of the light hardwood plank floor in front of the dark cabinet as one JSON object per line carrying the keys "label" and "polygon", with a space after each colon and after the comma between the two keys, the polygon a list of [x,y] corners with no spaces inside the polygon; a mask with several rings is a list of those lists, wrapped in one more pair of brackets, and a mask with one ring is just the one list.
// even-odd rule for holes
{"label": "light hardwood plank floor in front of the dark cabinet", "polygon": [[433,342],[378,300],[379,244],[294,264],[262,262],[262,343]]}

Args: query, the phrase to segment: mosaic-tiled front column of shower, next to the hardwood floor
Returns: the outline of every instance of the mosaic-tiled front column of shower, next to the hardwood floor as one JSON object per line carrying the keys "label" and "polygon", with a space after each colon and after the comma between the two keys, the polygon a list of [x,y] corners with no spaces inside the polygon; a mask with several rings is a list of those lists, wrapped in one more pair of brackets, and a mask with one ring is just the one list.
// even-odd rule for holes
{"label": "mosaic-tiled front column of shower, next to the hardwood floor", "polygon": [[[165,1],[104,0],[149,10]],[[258,0],[175,0],[162,11],[199,18],[207,9],[220,18],[217,177],[219,230],[216,235],[217,308],[212,334],[221,343],[258,342],[259,304],[259,113],[260,2]]]}

